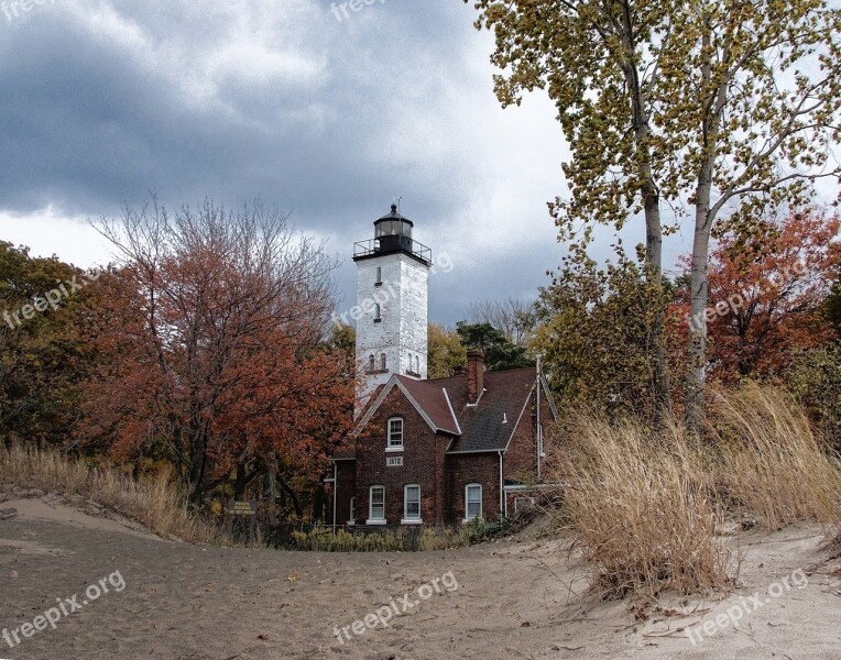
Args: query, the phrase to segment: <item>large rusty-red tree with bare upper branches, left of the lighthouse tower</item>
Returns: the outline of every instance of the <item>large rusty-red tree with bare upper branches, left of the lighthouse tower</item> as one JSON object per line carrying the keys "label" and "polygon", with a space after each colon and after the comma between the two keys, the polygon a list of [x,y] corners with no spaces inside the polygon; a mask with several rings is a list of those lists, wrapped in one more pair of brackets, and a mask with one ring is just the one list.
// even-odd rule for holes
{"label": "large rusty-red tree with bare upper branches, left of the lighthouse tower", "polygon": [[[98,310],[111,362],[91,380],[83,431],[112,455],[165,448],[190,499],[236,476],[314,484],[352,421],[356,383],[326,346],[335,266],[261,204],[153,202],[95,223],[119,277]],[[295,507],[302,513],[302,506]]]}

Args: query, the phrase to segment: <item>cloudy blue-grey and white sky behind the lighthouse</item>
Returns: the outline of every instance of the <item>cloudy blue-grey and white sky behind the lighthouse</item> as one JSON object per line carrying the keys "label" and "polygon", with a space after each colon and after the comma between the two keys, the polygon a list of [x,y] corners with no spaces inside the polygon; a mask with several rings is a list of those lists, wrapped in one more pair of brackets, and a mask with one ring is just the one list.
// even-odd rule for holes
{"label": "cloudy blue-grey and white sky behind the lighthouse", "polygon": [[458,0],[347,16],[326,0],[0,0],[0,240],[94,266],[109,251],[87,218],[151,193],[259,196],[342,257],[341,311],[353,241],[400,195],[454,264],[430,280],[432,320],[532,297],[566,253],[546,201],[568,152],[545,96],[499,107],[474,18]]}

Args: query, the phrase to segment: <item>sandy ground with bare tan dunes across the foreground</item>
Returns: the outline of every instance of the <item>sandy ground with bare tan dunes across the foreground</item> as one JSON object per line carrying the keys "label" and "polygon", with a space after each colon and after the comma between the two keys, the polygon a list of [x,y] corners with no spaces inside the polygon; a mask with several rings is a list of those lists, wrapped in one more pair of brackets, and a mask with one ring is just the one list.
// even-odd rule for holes
{"label": "sandy ground with bare tan dunes across the foreground", "polygon": [[[841,580],[809,527],[734,539],[744,551],[734,594],[665,598],[665,613],[638,622],[629,602],[586,603],[580,565],[558,541],[526,536],[429,553],[254,551],[163,541],[40,499],[0,503],[9,507],[19,513],[0,520],[0,635],[13,648],[0,637],[0,658],[841,659]],[[795,586],[798,570],[808,575],[804,588]],[[91,584],[108,593],[87,602]],[[23,637],[23,624],[59,603],[70,610],[74,596],[79,610]],[[335,636],[392,601],[401,614],[387,627]],[[744,613],[739,627],[723,615],[733,607]],[[687,628],[706,622],[714,634],[692,644]]]}

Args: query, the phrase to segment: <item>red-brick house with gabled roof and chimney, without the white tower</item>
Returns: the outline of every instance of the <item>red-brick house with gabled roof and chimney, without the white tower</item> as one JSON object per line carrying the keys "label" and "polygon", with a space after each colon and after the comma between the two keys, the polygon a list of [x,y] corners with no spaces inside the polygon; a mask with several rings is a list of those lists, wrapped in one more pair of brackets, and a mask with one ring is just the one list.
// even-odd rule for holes
{"label": "red-brick house with gabled roof and chimney, without the white tower", "polygon": [[536,369],[434,381],[393,374],[373,395],[354,449],[334,455],[338,525],[440,525],[513,513],[539,481],[543,429],[556,417]]}

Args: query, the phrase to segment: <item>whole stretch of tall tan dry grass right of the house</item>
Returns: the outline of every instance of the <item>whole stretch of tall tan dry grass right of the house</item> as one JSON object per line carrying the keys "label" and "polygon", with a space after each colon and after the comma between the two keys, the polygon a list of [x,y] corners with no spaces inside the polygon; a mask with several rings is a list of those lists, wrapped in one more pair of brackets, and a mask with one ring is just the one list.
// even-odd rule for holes
{"label": "whole stretch of tall tan dry grass right of the house", "polygon": [[[673,421],[566,421],[550,464],[564,520],[604,597],[727,587],[739,558],[717,536],[749,514],[767,529],[841,521],[841,465],[785,393],[749,384],[712,397],[703,441]],[[841,552],[841,536],[834,540]]]}

